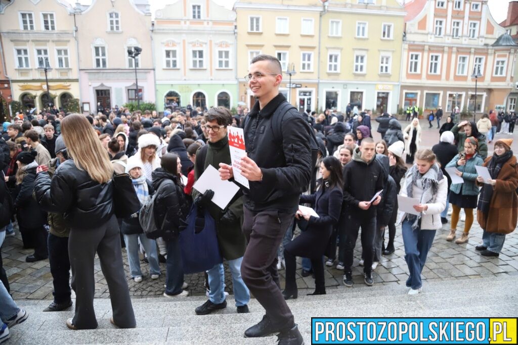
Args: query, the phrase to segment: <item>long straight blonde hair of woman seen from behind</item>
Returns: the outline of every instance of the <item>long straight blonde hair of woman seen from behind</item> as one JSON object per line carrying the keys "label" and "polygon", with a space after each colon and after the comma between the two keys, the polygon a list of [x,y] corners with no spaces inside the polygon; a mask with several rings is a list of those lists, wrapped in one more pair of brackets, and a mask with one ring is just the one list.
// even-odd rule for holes
{"label": "long straight blonde hair of woman seen from behind", "polygon": [[94,181],[103,184],[113,176],[113,166],[97,134],[81,114],[70,114],[61,121],[61,134],[70,157],[79,170],[85,170]]}

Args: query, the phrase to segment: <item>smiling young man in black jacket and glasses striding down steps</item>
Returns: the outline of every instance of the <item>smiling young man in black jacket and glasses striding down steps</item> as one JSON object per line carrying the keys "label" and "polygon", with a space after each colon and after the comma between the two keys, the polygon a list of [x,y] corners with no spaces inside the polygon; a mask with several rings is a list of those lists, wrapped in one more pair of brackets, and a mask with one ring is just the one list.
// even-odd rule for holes
{"label": "smiling young man in black jacket and glasses striding down steps", "polygon": [[[241,160],[241,174],[250,189],[243,188],[243,233],[248,246],[241,274],[266,315],[244,336],[280,333],[279,344],[299,345],[304,339],[280,290],[277,249],[298,209],[300,192],[309,185],[311,149],[307,125],[298,111],[291,107],[280,112],[287,109],[286,99],[279,94],[281,73],[277,58],[258,55],[245,77],[257,101],[244,124],[247,157]],[[272,129],[275,116],[282,117],[281,138]],[[220,167],[222,179],[233,176],[231,166]]]}

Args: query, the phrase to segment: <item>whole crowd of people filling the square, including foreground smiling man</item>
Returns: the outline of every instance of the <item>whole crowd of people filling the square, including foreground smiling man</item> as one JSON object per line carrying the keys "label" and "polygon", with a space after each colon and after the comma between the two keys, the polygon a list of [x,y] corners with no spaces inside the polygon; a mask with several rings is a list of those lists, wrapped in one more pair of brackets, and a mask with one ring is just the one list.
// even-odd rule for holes
{"label": "whole crowd of people filling the square, including foreground smiling man", "polygon": [[[349,104],[345,115],[336,110],[300,114],[279,94],[282,75],[275,57],[254,57],[246,79],[257,102],[250,111],[240,107],[235,115],[223,107],[179,108],[171,103],[163,114],[100,107],[95,116],[21,114],[13,123],[4,123],[0,163],[5,183],[0,198],[11,207],[3,207],[0,215],[0,245],[5,236],[15,234],[13,226],[18,224],[23,247],[34,249],[25,260],[49,259],[54,300],[44,311],[69,308],[74,289],[75,316],[67,326],[97,327],[96,253],[112,301],[110,322],[116,326],[136,326],[126,275],[139,283],[165,273],[163,295],[188,296],[180,237],[193,211],[196,229],[215,224],[221,257],[232,274],[236,311],[249,312],[251,295],[266,310],[244,335],[279,333],[281,344],[303,342],[285,302],[298,296],[296,257],[303,258],[301,274],[314,276],[315,290],[309,295],[326,293],[324,265],[342,270],[344,285],[352,287],[354,248],[360,235],[362,254],[357,259],[364,282],[372,286],[372,272],[381,256],[396,250],[396,226],[401,222],[409,270],[406,286],[409,294],[419,294],[436,231],[450,223],[446,239],[453,241],[462,211],[464,229],[455,243],[466,243],[474,209],[484,230],[483,243],[476,249],[483,256],[499,255],[518,217],[512,139],[494,136],[498,127],[494,119],[499,122],[500,115],[490,112],[477,124],[449,116],[442,127],[438,118],[440,140],[425,149],[418,116],[410,116],[402,129],[395,116],[381,114],[373,119],[378,122],[375,140],[370,110],[358,111]],[[513,116],[508,116],[509,124]],[[500,131],[512,132],[514,123],[506,127],[505,118]],[[202,193],[193,185],[209,166],[219,169],[222,179],[234,181],[227,126],[244,130],[247,157],[242,158],[240,170],[249,188],[239,185],[222,209],[212,202],[213,191]],[[494,154],[488,157],[487,145],[493,141]],[[491,179],[484,181],[477,166],[486,167]],[[455,168],[463,183],[452,183],[447,168]],[[142,207],[154,205],[159,235],[150,236],[139,212],[116,214],[118,190],[113,181],[122,174],[131,179]],[[419,199],[414,213],[398,212],[398,195]],[[315,214],[299,205],[310,206]],[[142,274],[140,256],[149,265],[149,277]],[[160,263],[165,263],[165,272]],[[283,265],[286,283],[281,290],[278,270]],[[227,307],[223,267],[218,262],[206,269],[208,299],[195,308],[196,314]],[[3,268],[0,278],[1,341],[27,313],[12,301]]]}

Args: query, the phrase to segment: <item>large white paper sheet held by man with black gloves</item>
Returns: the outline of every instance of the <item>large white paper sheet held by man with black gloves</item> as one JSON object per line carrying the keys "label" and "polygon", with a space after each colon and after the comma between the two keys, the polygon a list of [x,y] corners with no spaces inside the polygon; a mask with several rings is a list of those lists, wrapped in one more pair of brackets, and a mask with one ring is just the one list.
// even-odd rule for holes
{"label": "large white paper sheet held by man with black gloves", "polygon": [[205,193],[207,189],[213,190],[214,197],[212,197],[211,201],[221,209],[225,209],[239,190],[239,186],[235,183],[223,181],[218,170],[211,165],[205,169],[202,176],[194,183],[193,188],[202,194]]}

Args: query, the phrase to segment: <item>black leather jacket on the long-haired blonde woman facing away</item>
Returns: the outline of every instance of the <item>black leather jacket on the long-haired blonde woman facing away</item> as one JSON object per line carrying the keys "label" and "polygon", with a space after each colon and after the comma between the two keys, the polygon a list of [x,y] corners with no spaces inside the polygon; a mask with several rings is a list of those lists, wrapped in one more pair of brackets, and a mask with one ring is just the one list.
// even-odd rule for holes
{"label": "black leather jacket on the long-haired blonde woman facing away", "polygon": [[71,159],[57,168],[52,180],[48,173],[39,173],[34,187],[41,208],[63,213],[65,223],[72,229],[98,227],[113,215],[111,181],[105,184],[93,181]]}

